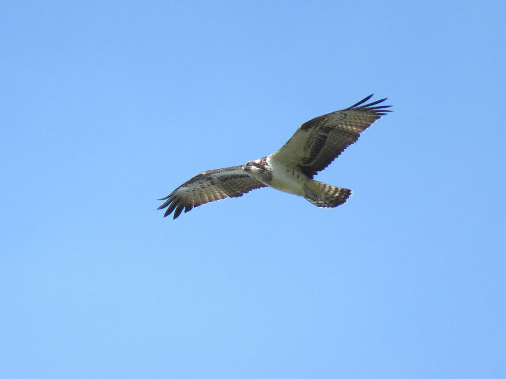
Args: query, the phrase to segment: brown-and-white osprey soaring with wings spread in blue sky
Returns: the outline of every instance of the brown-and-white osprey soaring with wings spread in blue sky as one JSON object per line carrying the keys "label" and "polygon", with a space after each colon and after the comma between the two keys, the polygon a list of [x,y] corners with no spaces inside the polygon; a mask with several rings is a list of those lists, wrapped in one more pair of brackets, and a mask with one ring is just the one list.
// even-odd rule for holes
{"label": "brown-and-white osprey soaring with wings spread in blue sky", "polygon": [[333,208],[351,195],[347,188],[313,180],[360,133],[386,112],[390,105],[377,105],[385,99],[364,104],[370,94],[358,103],[318,116],[302,124],[274,154],[243,165],[201,172],[177,187],[157,209],[168,207],[164,217],[174,210],[174,219],[181,212],[227,197],[237,198],[251,189],[272,187],[288,194],[304,197],[317,207]]}

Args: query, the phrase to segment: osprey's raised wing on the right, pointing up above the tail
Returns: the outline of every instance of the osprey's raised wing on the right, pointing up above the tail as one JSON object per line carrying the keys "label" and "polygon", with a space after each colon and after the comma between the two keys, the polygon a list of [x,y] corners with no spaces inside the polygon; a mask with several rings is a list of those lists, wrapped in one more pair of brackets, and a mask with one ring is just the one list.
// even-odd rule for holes
{"label": "osprey's raised wing on the right, pointing up above the tail", "polygon": [[390,105],[377,105],[387,99],[364,104],[371,97],[372,94],[349,108],[305,122],[272,159],[297,166],[312,178],[353,144],[374,121],[391,112],[386,109]]}

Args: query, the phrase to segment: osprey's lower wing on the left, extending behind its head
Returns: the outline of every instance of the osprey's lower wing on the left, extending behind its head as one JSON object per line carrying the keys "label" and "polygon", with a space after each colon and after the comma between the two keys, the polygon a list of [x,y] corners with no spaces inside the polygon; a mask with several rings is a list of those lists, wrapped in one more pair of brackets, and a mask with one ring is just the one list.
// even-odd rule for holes
{"label": "osprey's lower wing on the left, extending behind its head", "polygon": [[176,210],[176,219],[183,209],[186,213],[199,205],[227,197],[238,198],[251,189],[265,186],[242,171],[242,166],[204,171],[181,184],[170,195],[159,199],[166,201],[157,209],[168,207],[163,217]]}

